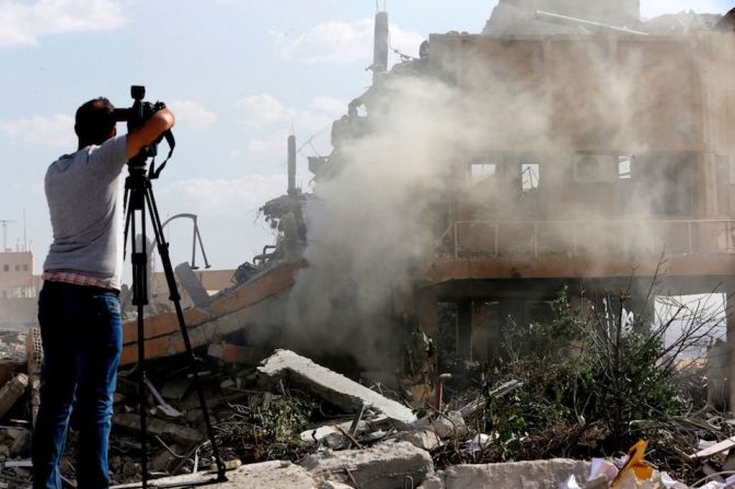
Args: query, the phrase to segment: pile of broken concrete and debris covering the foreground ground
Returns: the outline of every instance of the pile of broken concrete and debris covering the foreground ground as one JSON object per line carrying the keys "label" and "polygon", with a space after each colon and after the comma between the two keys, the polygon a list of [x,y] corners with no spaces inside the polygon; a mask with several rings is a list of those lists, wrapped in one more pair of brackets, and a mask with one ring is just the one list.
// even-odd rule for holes
{"label": "pile of broken concrete and debris covering the foreground ground", "polygon": [[[0,388],[0,405],[10,405],[0,428],[0,488],[28,487],[31,477],[33,396],[23,365],[15,366]],[[662,463],[658,452],[663,444],[673,444],[688,471],[669,476],[656,470],[652,477],[657,477],[658,486],[646,486],[643,478],[644,485],[613,486],[609,477],[602,485],[600,467],[606,467],[608,475],[613,469],[616,474],[622,471],[624,457],[592,463],[553,456],[525,462],[502,459],[496,451],[501,434],[483,432],[480,417],[486,416],[489,400],[491,405],[505,398],[513,400],[524,386],[519,380],[503,382],[482,395],[445,386],[446,399],[439,393],[428,403],[425,395],[411,398],[409,388],[399,389],[404,394],[388,388],[379,393],[289,350],[276,350],[260,364],[254,360],[248,364],[210,358],[203,366],[206,370],[200,380],[217,442],[231,469],[229,482],[216,487],[685,489],[688,486],[677,481],[682,474],[689,474],[689,479],[693,474],[704,474],[712,478],[692,487],[722,488],[730,486],[717,473],[735,466],[727,455],[735,446],[735,422],[707,410],[671,417],[666,427],[668,440],[654,444],[656,463]],[[151,480],[181,484],[210,476],[208,470],[215,468],[211,447],[183,360],[174,356],[150,362],[148,376]],[[448,382],[449,376],[443,379]],[[134,487],[140,479],[141,455],[135,369],[120,372],[115,400],[111,474],[118,487]],[[79,422],[71,421],[69,450],[62,463],[64,476],[70,482],[74,480],[74,427]],[[658,427],[658,432],[666,431]],[[554,434],[560,439],[567,435]],[[689,450],[692,440],[699,444],[696,451]],[[533,445],[540,439],[528,436],[520,442]],[[537,453],[547,453],[543,451],[548,446],[536,449]],[[533,457],[532,451],[524,453]]]}

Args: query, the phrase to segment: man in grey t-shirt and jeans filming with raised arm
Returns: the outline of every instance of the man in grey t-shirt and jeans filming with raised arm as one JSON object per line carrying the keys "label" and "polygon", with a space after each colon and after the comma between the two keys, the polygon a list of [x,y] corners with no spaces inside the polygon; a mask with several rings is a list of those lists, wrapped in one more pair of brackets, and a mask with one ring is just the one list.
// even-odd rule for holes
{"label": "man in grey t-shirt and jeans filming with raised arm", "polygon": [[71,407],[79,422],[79,489],[107,488],[107,441],[123,331],[123,177],[127,161],[174,125],[168,108],[116,136],[107,98],[77,109],[79,149],[51,163],[46,198],[54,229],[38,324],[44,347],[33,432],[33,487],[61,488],[59,462]]}

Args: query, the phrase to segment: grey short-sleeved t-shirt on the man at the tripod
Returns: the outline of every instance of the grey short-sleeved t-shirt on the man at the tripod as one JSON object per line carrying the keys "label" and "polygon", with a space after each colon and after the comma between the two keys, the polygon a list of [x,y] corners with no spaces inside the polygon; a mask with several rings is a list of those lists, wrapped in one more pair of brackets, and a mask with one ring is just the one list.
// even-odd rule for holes
{"label": "grey short-sleeved t-shirt on the man at the tripod", "polygon": [[72,271],[118,289],[123,272],[126,136],[65,154],[46,172],[54,228],[44,271]]}

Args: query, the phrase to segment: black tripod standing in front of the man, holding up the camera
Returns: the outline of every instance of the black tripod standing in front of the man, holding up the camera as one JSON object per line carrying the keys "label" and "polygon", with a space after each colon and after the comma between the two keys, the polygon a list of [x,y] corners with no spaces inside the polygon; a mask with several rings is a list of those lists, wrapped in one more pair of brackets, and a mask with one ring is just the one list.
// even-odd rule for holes
{"label": "black tripod standing in front of the man, holding up the camera", "polygon": [[[198,369],[196,366],[196,359],[194,358],[194,352],[192,351],[192,342],[188,338],[188,331],[186,329],[186,323],[184,322],[184,313],[181,308],[181,295],[179,294],[179,289],[176,287],[176,281],[173,275],[173,268],[171,266],[171,258],[169,256],[169,244],[163,237],[163,226],[161,225],[161,218],[158,213],[158,208],[156,206],[156,198],[153,197],[153,188],[151,186],[151,178],[156,178],[158,173],[154,173],[151,168],[151,172],[146,174],[146,159],[147,155],[145,152],[135,156],[128,162],[129,175],[125,179],[125,205],[126,205],[126,217],[125,217],[125,242],[127,243],[128,231],[130,231],[130,258],[133,263],[133,304],[138,308],[138,392],[140,395],[140,470],[142,473],[142,488],[148,488],[148,453],[147,453],[147,429],[146,429],[146,338],[143,331],[143,305],[148,304],[148,272],[146,265],[148,261],[147,251],[146,251],[146,208],[151,217],[151,223],[153,226],[154,242],[158,246],[159,255],[161,256],[161,263],[163,265],[163,271],[165,273],[165,280],[169,286],[170,296],[169,299],[173,302],[174,307],[176,308],[176,317],[179,318],[179,329],[184,339],[184,346],[186,347],[186,357],[188,360],[188,366],[192,373],[194,381],[194,387],[197,392],[199,398],[199,407],[202,408],[202,414],[204,416],[204,422],[207,428],[207,436],[209,438],[209,443],[211,443],[211,451],[217,464],[217,477],[207,481],[202,481],[197,484],[184,484],[181,487],[191,487],[191,486],[202,486],[211,484],[215,481],[226,481],[227,477],[225,476],[225,462],[219,454],[219,449],[217,446],[217,441],[215,440],[215,433],[211,428],[211,421],[209,419],[209,411],[207,410],[207,405],[204,399],[204,391],[202,389],[202,383],[199,382]],[[152,165],[151,165],[152,166]],[[162,166],[161,166],[162,168]],[[159,173],[160,170],[159,168]],[[139,219],[137,221],[136,219]],[[141,249],[138,249],[138,244],[136,243],[136,230],[140,228],[140,234],[142,235]],[[161,487],[161,486],[158,486]],[[170,485],[166,487],[177,487],[176,485]]]}

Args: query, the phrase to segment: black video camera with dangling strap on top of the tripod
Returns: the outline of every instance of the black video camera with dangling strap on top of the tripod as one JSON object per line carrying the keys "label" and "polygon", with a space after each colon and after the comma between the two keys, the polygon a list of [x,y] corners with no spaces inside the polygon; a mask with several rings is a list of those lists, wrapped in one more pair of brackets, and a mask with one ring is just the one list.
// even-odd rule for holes
{"label": "black video camera with dangling strap on top of the tripod", "polygon": [[[158,110],[165,108],[165,104],[163,102],[143,102],[146,96],[146,88],[143,85],[130,85],[130,96],[134,100],[131,107],[116,108],[113,112],[113,118],[116,123],[127,123],[128,132],[136,130],[146,124],[146,121],[148,121],[148,119],[150,119],[151,116]],[[163,163],[161,163],[158,171],[156,171],[153,163],[151,163],[149,172],[149,176],[151,178],[158,178],[159,174],[163,170],[163,166],[165,166],[165,163],[171,158],[174,147],[176,145],[176,141],[174,140],[173,132],[171,132],[171,130],[163,132],[161,137],[158,138],[154,142],[140,150],[140,153],[130,160],[128,164],[131,166],[140,166],[145,165],[146,160],[149,156],[156,159],[156,155],[158,154],[158,144],[162,139],[165,139],[169,143],[169,155],[163,161]]]}

